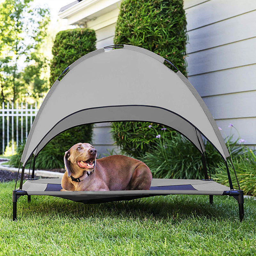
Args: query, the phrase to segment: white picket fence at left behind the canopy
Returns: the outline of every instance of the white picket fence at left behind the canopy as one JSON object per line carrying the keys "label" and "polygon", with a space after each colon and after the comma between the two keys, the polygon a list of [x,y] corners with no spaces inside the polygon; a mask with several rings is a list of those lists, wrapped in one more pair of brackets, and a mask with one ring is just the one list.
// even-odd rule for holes
{"label": "white picket fence at left behind the canopy", "polygon": [[[17,103],[16,108],[14,108],[13,103],[11,104],[11,108],[10,108],[9,102],[7,102],[6,108],[4,106],[4,103],[2,104],[2,109],[0,109],[0,118],[2,116],[3,152],[5,151],[5,145],[7,145],[7,147],[9,147],[10,142],[11,142],[12,154],[14,154],[14,146],[15,146],[14,142],[16,142],[16,146],[18,148],[19,141],[21,143],[23,143],[23,140],[27,139],[28,132],[33,123],[33,116],[36,116],[37,112],[38,112],[38,108],[37,108],[36,103],[34,105],[34,108],[33,108],[33,105],[31,105],[31,104],[28,106],[27,102],[25,104],[21,103],[20,106]],[[25,119],[25,120],[23,120],[23,119]],[[20,125],[19,125],[19,122],[20,122]],[[14,135],[14,125],[15,124],[16,124],[16,136]],[[5,127],[5,125],[6,125],[6,127]],[[26,127],[25,134],[23,134],[24,125]],[[7,128],[6,136],[5,136],[5,128]],[[10,129],[11,129],[11,138],[10,138]],[[20,133],[20,138],[19,138],[19,133]],[[5,137],[7,137],[7,140],[5,140]]]}

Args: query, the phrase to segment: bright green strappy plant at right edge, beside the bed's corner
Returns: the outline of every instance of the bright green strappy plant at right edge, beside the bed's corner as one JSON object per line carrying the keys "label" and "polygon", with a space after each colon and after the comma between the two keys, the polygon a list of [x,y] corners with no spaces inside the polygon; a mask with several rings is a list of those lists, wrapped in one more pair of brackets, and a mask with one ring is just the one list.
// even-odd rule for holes
{"label": "bright green strappy plant at right edge, beside the bed's corner", "polygon": [[[244,190],[245,195],[256,196],[256,156],[255,152],[249,148],[243,148],[243,154],[233,158],[233,164],[236,170],[237,179],[240,188]],[[219,163],[216,173],[213,175],[214,180],[229,187],[226,166]],[[236,180],[235,174],[230,168],[230,176],[232,180]],[[233,182],[234,187],[236,183]],[[237,188],[238,189],[238,188]]]}

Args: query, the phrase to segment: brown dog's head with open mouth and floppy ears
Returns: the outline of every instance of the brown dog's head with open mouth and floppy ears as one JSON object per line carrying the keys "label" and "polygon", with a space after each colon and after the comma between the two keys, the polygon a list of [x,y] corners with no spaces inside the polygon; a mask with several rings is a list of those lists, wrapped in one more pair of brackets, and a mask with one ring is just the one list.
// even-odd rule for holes
{"label": "brown dog's head with open mouth and floppy ears", "polygon": [[[89,143],[77,143],[65,152],[64,163],[68,177],[80,177],[84,171],[94,171],[97,150]],[[81,174],[82,173],[82,174]]]}

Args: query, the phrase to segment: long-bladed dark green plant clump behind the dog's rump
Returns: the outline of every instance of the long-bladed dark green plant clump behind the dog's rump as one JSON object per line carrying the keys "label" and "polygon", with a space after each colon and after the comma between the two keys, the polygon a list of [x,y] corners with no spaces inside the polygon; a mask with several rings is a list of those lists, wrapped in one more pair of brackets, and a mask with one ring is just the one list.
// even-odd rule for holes
{"label": "long-bladed dark green plant clump behind the dog's rump", "polygon": [[[166,131],[164,130],[164,134],[157,138],[151,150],[139,159],[148,165],[154,178],[203,179],[201,153],[179,133],[172,132],[171,136],[166,136],[168,133]],[[155,130],[155,134],[158,133],[159,130]],[[236,147],[236,142],[232,142],[232,137],[228,139],[233,156],[238,156],[242,152],[242,148]],[[209,142],[206,143],[205,149],[210,171],[213,174],[223,159]]]}

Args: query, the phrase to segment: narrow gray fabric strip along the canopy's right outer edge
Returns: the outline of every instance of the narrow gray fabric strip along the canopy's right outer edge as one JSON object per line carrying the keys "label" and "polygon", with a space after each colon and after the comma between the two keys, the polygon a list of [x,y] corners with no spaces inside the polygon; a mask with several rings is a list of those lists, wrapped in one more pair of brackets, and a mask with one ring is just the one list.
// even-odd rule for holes
{"label": "narrow gray fabric strip along the canopy's right outer edge", "polygon": [[[188,81],[188,79],[182,75],[182,73],[180,71],[178,71],[176,73],[180,79],[188,86],[188,89],[193,93],[193,95],[196,97],[196,100],[199,102],[200,106],[203,108],[204,110],[204,113],[206,114],[206,116],[208,117],[210,123],[212,124],[212,128],[219,140],[219,143],[220,143],[220,146],[222,148],[222,152],[220,151],[220,153],[222,154],[222,156],[226,156],[228,157],[229,156],[229,153],[228,153],[228,149],[227,149],[227,146],[221,136],[221,133],[220,133],[220,130],[215,122],[215,120],[213,119],[212,117],[212,114],[211,112],[209,111],[209,109],[207,108],[206,104],[204,103],[204,100],[200,97],[199,93],[196,91],[195,87],[190,84],[190,82]],[[209,139],[209,138],[208,138]],[[216,145],[217,143],[214,141],[212,141],[213,145]],[[224,157],[225,158],[225,157]]]}

